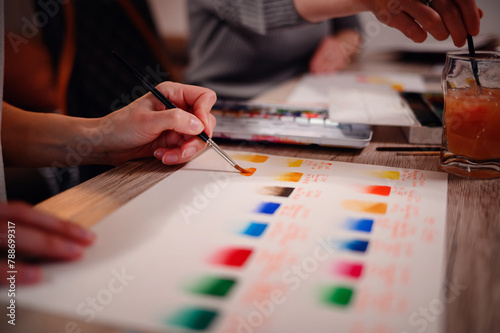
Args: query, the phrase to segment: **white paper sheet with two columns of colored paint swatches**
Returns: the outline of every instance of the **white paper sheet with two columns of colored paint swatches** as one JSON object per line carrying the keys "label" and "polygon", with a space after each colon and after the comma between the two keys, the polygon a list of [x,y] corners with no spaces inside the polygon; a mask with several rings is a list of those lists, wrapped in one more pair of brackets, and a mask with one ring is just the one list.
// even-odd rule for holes
{"label": "white paper sheet with two columns of colored paint swatches", "polygon": [[206,151],[96,225],[85,257],[46,267],[18,304],[151,331],[441,330],[419,311],[443,282],[446,174],[230,153],[255,174]]}

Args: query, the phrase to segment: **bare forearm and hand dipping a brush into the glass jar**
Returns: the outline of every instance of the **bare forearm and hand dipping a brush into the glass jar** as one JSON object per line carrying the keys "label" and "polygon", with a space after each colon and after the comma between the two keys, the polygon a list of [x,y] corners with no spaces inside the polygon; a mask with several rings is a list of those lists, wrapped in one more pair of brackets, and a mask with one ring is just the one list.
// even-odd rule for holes
{"label": "bare forearm and hand dipping a brush into the glass jar", "polygon": [[433,0],[430,6],[418,0],[293,0],[299,15],[310,22],[370,11],[379,21],[400,30],[415,42],[429,32],[437,40],[451,35],[463,46],[467,33],[479,33],[481,11],[475,0]]}

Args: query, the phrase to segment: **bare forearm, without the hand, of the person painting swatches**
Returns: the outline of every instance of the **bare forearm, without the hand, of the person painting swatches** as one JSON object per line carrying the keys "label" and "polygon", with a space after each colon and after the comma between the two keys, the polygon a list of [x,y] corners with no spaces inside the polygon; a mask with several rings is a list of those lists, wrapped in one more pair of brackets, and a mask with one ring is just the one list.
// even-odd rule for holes
{"label": "bare forearm, without the hand, of the person painting swatches", "polygon": [[99,119],[2,107],[2,148],[7,166],[67,166],[100,163]]}

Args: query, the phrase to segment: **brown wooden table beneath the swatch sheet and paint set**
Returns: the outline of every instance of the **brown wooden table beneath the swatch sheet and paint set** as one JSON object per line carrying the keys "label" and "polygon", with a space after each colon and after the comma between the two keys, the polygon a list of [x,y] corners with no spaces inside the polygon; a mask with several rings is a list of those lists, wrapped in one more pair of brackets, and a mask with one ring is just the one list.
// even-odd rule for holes
{"label": "brown wooden table beneath the swatch sheet and paint set", "polygon": [[[366,69],[359,64],[352,67]],[[395,145],[408,146],[398,127],[375,127],[372,142],[362,150],[220,143],[225,149],[247,152],[440,171],[438,156],[397,156],[394,152],[376,151],[380,146]],[[128,162],[40,203],[37,208],[91,226],[175,170],[154,159]],[[441,314],[446,317],[446,331],[500,332],[500,180],[469,180],[450,175],[446,223],[447,309]],[[46,323],[43,316],[38,320]],[[434,320],[434,316],[429,320]]]}

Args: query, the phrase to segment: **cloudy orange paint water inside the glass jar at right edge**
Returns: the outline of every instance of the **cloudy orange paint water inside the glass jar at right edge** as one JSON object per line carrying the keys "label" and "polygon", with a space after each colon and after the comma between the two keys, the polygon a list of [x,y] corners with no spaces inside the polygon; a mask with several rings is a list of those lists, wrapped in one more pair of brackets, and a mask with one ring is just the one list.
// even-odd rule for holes
{"label": "cloudy orange paint water inside the glass jar at right edge", "polygon": [[500,89],[449,89],[444,122],[453,154],[476,160],[500,158]]}

